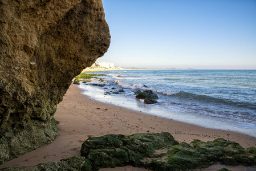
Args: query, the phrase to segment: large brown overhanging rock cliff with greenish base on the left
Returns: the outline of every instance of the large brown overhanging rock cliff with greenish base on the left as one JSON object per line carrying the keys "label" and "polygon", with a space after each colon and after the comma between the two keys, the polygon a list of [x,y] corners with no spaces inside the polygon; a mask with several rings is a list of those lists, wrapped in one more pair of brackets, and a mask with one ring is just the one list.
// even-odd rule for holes
{"label": "large brown overhanging rock cliff with greenish base on the left", "polygon": [[72,78],[103,56],[100,0],[0,0],[0,164],[51,143]]}

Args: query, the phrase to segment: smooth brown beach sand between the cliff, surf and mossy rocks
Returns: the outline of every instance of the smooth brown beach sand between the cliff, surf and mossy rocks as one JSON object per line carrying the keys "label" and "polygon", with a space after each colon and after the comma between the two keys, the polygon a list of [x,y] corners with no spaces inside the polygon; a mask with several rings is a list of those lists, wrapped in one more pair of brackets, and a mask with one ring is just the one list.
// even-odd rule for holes
{"label": "smooth brown beach sand between the cliff, surf and mossy rocks", "polygon": [[[0,169],[10,166],[33,166],[41,162],[80,156],[82,143],[88,137],[109,133],[132,135],[142,132],[170,132],[179,142],[190,143],[194,139],[212,141],[221,137],[235,141],[243,148],[256,147],[256,138],[242,133],[202,128],[92,100],[83,95],[82,89],[75,84],[71,84],[63,101],[58,104],[54,118],[60,122],[56,126],[59,132],[58,137],[51,144],[8,161],[0,165]],[[117,170],[137,169],[127,166]]]}

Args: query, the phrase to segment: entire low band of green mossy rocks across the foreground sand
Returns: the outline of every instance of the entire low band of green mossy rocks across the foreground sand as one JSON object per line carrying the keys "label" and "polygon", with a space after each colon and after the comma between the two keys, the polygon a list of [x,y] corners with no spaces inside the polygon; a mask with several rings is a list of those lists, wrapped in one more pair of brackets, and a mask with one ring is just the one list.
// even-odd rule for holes
{"label": "entire low band of green mossy rocks across the foreground sand", "polygon": [[[99,170],[132,165],[152,170],[194,170],[213,164],[256,166],[256,148],[224,139],[178,143],[170,133],[137,133],[90,137],[81,155],[39,164],[34,170]],[[29,170],[8,168],[3,170]],[[227,169],[222,169],[227,170]]]}

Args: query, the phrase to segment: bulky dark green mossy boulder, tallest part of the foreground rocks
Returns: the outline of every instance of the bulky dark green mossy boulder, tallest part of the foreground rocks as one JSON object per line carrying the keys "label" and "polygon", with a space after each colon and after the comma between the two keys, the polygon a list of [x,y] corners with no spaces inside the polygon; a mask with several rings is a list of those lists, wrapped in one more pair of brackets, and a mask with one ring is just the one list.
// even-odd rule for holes
{"label": "bulky dark green mossy boulder, tallest part of the foreground rocks", "polygon": [[90,159],[95,169],[125,165],[143,167],[145,157],[154,156],[157,149],[176,144],[178,142],[166,132],[90,137],[82,145],[81,156]]}

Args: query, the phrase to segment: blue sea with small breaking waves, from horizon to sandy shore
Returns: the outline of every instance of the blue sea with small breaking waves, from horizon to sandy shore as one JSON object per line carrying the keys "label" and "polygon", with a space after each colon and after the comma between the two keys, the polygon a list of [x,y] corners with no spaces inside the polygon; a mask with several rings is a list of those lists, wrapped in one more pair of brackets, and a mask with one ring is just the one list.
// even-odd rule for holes
{"label": "blue sea with small breaking waves, from horizon to sandy shore", "polygon": [[[256,137],[256,70],[115,70],[79,87],[84,94],[151,115]],[[103,87],[93,86],[101,84]],[[123,89],[124,92],[120,92]],[[135,91],[159,99],[144,104]]]}

